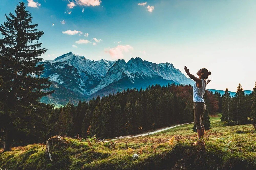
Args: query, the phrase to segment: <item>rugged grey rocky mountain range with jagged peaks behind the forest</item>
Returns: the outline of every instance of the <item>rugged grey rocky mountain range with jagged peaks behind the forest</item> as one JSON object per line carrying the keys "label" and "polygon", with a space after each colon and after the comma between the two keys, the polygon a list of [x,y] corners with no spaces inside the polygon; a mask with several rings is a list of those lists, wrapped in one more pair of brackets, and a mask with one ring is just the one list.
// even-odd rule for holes
{"label": "rugged grey rocky mountain range with jagged peaks behind the forest", "polygon": [[38,64],[44,64],[42,77],[53,82],[51,96],[42,98],[42,102],[64,105],[77,103],[97,95],[126,90],[127,88],[146,88],[152,84],[166,85],[193,84],[179,69],[171,63],[152,63],[139,57],[124,60],[90,60],[69,52]]}

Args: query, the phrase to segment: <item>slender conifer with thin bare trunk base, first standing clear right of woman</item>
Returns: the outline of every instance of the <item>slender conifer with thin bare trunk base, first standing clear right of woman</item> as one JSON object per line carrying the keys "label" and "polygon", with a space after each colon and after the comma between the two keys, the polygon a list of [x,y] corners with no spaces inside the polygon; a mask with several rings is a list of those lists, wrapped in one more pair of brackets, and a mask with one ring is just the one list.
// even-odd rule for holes
{"label": "slender conifer with thin bare trunk base, first standing clear right of woman", "polygon": [[228,91],[228,88],[226,88],[223,96],[222,96],[222,116],[221,116],[221,121],[228,121],[228,126],[229,126],[229,121],[230,117],[232,117],[230,112],[230,107],[231,107],[231,97],[230,93]]}

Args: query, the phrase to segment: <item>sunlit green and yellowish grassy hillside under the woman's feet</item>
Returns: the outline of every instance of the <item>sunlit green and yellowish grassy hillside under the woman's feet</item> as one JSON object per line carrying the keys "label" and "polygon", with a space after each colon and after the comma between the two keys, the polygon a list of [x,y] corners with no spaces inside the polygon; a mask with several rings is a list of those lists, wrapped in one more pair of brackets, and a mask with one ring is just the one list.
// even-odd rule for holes
{"label": "sunlit green and yellowish grassy hillside under the woman's feet", "polygon": [[[193,124],[113,142],[65,137],[45,145],[15,147],[0,154],[0,169],[255,169],[256,132],[252,125],[227,127],[220,115],[211,117],[206,148],[193,146]],[[132,155],[139,157],[133,159]]]}

